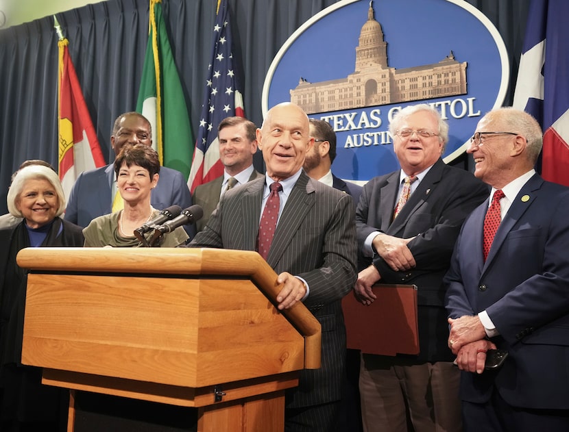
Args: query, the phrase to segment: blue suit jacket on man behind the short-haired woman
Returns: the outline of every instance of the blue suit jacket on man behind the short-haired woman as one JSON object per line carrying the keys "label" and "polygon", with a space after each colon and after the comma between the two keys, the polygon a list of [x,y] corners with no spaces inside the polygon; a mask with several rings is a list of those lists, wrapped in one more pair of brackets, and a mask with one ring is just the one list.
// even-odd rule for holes
{"label": "blue suit jacket on man behind the short-haired woman", "polygon": [[[113,181],[112,164],[81,173],[69,194],[65,220],[86,227],[98,216],[111,213]],[[182,209],[192,205],[190,190],[182,173],[161,166],[160,179],[156,188],[152,190],[150,203],[158,210],[174,204],[180,205]],[[195,227],[188,226],[186,231],[190,237],[193,237]]]}

